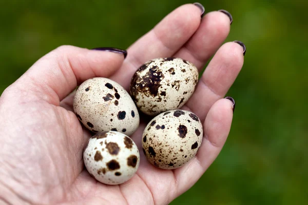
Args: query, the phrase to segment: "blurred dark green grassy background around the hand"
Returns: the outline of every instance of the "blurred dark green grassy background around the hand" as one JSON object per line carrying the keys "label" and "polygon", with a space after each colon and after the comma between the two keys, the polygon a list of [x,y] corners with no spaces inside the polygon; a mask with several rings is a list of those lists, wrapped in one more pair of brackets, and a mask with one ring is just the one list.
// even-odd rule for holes
{"label": "blurred dark green grassy background around the hand", "polygon": [[[127,48],[187,1],[0,1],[0,94],[60,45]],[[193,3],[193,2],[191,2]],[[203,177],[171,204],[308,204],[308,1],[200,1],[234,18],[247,47],[228,95],[232,130]]]}

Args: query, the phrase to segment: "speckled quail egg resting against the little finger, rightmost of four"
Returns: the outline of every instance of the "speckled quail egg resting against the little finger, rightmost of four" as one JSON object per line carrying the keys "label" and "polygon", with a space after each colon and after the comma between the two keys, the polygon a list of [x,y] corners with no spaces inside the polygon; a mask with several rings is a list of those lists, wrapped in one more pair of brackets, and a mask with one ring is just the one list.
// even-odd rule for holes
{"label": "speckled quail egg resting against the little finger, rightmost of four", "polygon": [[159,114],[148,123],[142,135],[142,149],[152,165],[176,169],[197,154],[202,138],[203,128],[197,115],[172,110]]}

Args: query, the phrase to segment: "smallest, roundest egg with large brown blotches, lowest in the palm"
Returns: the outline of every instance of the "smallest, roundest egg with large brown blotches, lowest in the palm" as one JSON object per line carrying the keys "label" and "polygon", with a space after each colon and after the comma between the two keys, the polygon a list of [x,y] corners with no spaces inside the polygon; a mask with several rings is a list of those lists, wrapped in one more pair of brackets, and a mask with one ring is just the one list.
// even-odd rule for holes
{"label": "smallest, roundest egg with large brown blotches, lowest in the palm", "polygon": [[95,134],[83,154],[85,166],[98,181],[119,185],[137,172],[140,155],[136,144],[121,132]]}

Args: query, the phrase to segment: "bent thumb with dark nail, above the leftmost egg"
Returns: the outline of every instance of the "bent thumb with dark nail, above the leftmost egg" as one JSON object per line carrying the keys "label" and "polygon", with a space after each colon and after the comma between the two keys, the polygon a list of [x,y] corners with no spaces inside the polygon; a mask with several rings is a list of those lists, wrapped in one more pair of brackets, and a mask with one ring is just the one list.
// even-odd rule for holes
{"label": "bent thumb with dark nail, above the leftmost egg", "polygon": [[[110,51],[110,50],[109,50]],[[38,60],[19,80],[21,87],[53,105],[91,77],[108,77],[121,67],[124,52],[61,46]]]}

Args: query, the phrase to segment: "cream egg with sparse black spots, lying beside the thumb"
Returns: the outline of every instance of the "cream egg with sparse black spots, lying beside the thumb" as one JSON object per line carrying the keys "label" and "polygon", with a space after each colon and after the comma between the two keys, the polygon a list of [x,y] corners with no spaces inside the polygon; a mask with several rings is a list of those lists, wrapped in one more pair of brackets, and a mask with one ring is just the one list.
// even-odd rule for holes
{"label": "cream egg with sparse black spots, lying beside the thumb", "polygon": [[73,108],[94,133],[118,131],[130,136],[139,127],[139,113],[128,92],[104,77],[84,81],[76,91]]}

